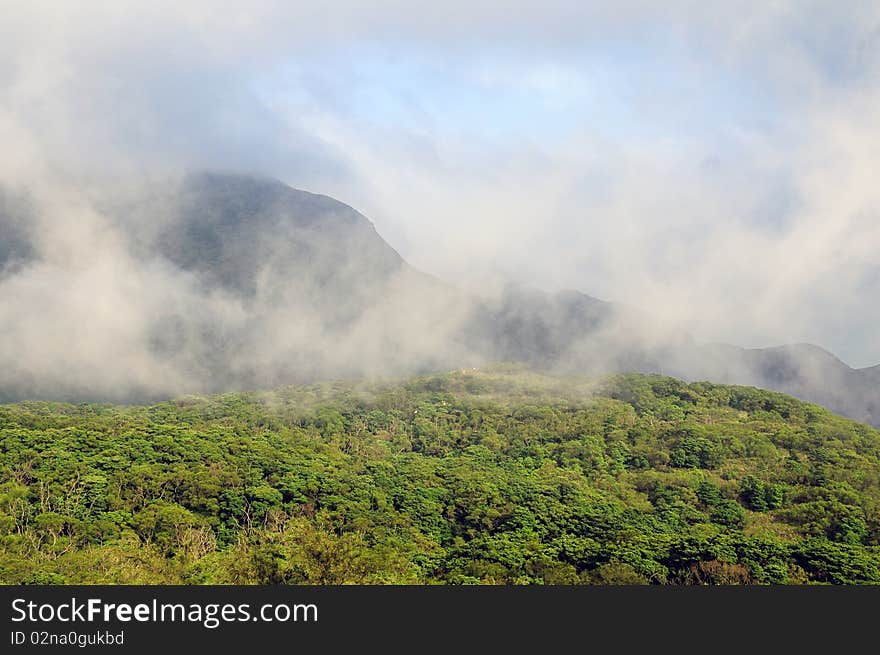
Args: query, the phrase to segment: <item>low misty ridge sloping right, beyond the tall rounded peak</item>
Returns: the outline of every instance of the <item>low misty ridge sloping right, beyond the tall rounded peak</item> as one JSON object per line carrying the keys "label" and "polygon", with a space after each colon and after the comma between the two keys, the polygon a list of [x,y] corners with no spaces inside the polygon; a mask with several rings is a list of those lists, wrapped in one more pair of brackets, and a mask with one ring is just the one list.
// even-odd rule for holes
{"label": "low misty ridge sloping right, beyond the tall rounded peak", "polygon": [[568,373],[633,371],[771,389],[880,426],[880,366],[853,369],[813,344],[747,349],[657,332],[644,317],[581,294],[503,296],[488,322],[495,359]]}

